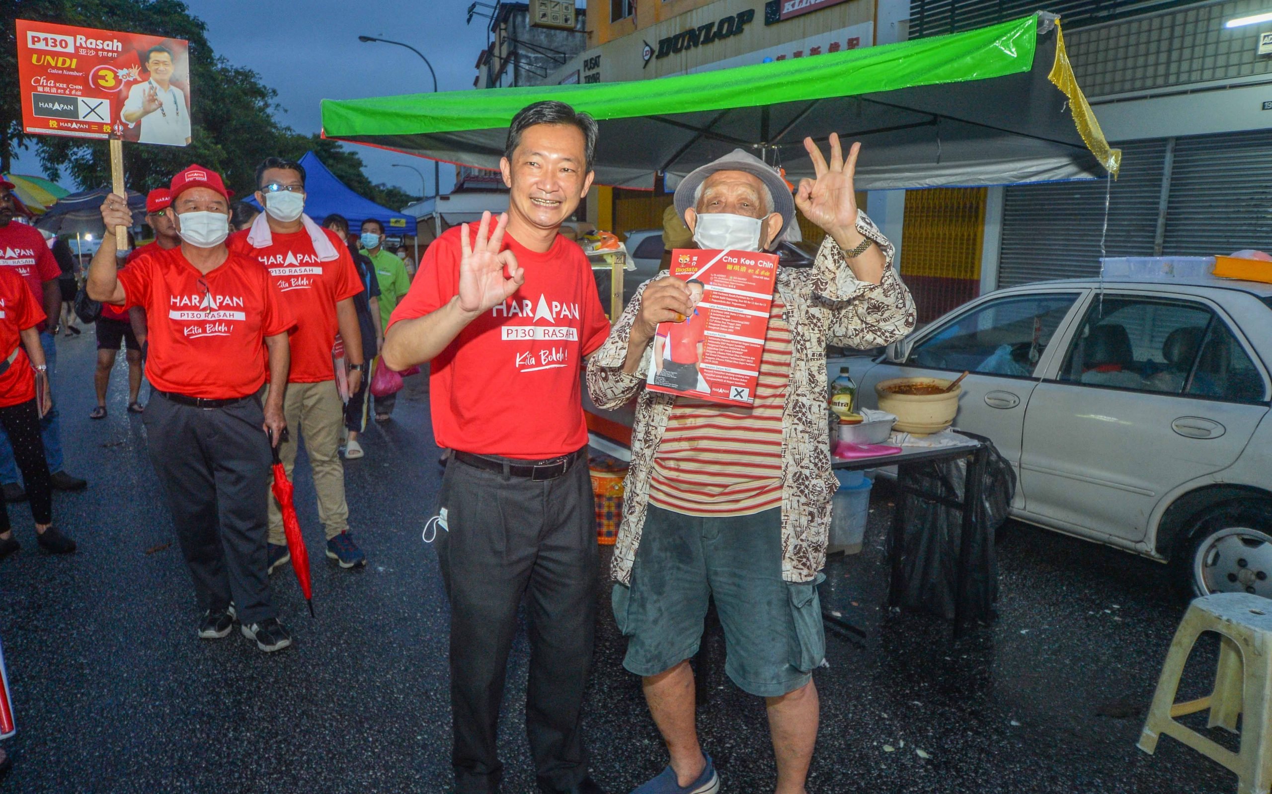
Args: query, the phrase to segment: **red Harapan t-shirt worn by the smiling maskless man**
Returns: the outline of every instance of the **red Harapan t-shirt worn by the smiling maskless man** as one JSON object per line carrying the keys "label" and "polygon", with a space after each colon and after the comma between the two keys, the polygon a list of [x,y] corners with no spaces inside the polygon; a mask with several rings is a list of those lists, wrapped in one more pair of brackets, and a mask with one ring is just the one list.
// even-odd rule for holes
{"label": "red Harapan t-shirt worn by the smiling maskless man", "polygon": [[[459,293],[460,229],[429,245],[389,328]],[[432,431],[440,446],[478,455],[566,455],[588,443],[579,367],[609,335],[609,320],[575,243],[557,235],[552,248],[537,253],[509,234],[504,248],[516,255],[525,283],[432,360]]]}

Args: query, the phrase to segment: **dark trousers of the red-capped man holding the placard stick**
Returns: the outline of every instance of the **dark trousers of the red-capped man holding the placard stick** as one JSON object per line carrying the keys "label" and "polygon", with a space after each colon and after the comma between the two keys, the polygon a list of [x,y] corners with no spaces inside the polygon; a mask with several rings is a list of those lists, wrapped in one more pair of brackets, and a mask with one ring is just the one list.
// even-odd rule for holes
{"label": "dark trousers of the red-capped man holding the placard stick", "polygon": [[234,601],[245,625],[277,616],[266,574],[271,457],[261,403],[195,408],[155,391],[141,418],[198,609]]}

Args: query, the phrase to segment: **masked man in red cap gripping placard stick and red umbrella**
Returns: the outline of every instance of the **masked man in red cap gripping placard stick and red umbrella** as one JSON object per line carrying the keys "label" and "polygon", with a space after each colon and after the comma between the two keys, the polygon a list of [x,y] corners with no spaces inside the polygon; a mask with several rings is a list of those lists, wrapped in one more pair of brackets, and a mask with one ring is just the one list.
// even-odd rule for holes
{"label": "masked man in red cap gripping placard stick and red umbrella", "polygon": [[[177,536],[204,617],[198,636],[220,639],[234,621],[265,652],[291,644],[270,598],[266,573],[270,446],[286,422],[282,390],[262,405],[266,365],[287,380],[287,332],[295,325],[268,271],[225,245],[230,203],[219,174],[191,165],[172,180],[177,248],[114,268],[114,235],[93,257],[88,295],[141,306],[149,319],[144,422],[150,460],[168,493]],[[131,222],[127,202],[102,203],[108,230]],[[259,429],[257,429],[259,428]]]}

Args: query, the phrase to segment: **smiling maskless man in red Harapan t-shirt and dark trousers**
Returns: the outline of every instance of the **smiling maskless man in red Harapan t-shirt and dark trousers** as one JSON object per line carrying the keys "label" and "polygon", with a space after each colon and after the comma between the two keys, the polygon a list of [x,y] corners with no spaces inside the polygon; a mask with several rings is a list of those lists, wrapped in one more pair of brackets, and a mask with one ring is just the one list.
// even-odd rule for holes
{"label": "smiling maskless man in red Harapan t-shirt and dark trousers", "polygon": [[495,737],[516,609],[530,636],[525,729],[542,791],[593,794],[579,718],[591,666],[598,554],[583,358],[609,333],[583,250],[558,234],[591,184],[597,123],[524,108],[501,168],[508,215],[429,246],[389,319],[393,370],[431,362],[432,431],[454,450],[438,560],[450,598],[455,791],[499,789]]}

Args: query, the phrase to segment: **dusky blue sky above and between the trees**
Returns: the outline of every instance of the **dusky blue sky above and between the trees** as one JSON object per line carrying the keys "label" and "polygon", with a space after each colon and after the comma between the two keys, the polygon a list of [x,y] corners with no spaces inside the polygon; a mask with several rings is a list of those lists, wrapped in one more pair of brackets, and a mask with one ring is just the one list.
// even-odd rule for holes
{"label": "dusky blue sky above and between the trees", "polygon": [[[494,5],[494,1],[490,3]],[[207,23],[207,39],[216,55],[247,66],[279,91],[280,121],[298,132],[318,132],[321,99],[354,99],[410,94],[432,89],[429,69],[404,47],[363,43],[359,34],[411,44],[438,72],[438,89],[472,89],[473,65],[486,47],[490,20],[474,17],[464,24],[469,0],[191,0],[191,13]],[[198,86],[193,86],[198,102]],[[368,146],[352,146],[366,163],[371,182],[396,184],[420,193],[420,177],[393,163],[413,165],[434,192],[432,163]],[[33,151],[19,151],[13,172],[39,174]],[[454,170],[441,166],[443,192]],[[69,179],[64,185],[74,189]]]}

